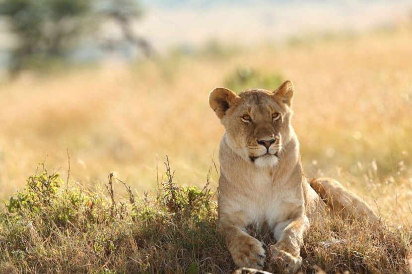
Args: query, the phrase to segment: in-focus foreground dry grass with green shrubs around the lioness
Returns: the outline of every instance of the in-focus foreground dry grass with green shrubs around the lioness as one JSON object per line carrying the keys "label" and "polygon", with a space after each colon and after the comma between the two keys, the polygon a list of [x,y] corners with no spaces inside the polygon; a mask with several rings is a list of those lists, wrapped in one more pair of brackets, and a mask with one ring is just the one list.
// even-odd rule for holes
{"label": "in-focus foreground dry grass with green shrubs around the lioness", "polygon": [[[0,214],[1,273],[236,270],[216,234],[216,203],[207,184],[203,190],[178,187],[168,168],[157,191],[141,199],[130,195],[126,201],[73,182],[59,188],[67,182],[40,170],[24,191],[9,200],[7,212]],[[409,223],[378,231],[360,220],[313,223],[301,251],[302,272],[407,274],[411,229]],[[259,231],[251,233],[267,246],[275,243]],[[269,258],[265,268],[282,273]]]}

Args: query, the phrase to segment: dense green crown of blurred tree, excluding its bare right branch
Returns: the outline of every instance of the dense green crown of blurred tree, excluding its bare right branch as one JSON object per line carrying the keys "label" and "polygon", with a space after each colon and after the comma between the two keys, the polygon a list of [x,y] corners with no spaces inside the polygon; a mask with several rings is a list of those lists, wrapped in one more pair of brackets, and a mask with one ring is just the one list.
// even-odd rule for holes
{"label": "dense green crown of blurred tree, excluding its bare right branch", "polygon": [[16,73],[44,58],[63,56],[80,34],[92,1],[0,1],[0,15],[7,17],[10,30],[16,35],[10,72]]}

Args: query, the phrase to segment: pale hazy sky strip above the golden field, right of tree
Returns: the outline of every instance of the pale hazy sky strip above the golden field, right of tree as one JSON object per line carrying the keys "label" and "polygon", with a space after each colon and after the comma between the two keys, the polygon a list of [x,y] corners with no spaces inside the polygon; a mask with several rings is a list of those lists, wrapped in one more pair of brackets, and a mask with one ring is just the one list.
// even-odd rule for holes
{"label": "pale hazy sky strip above the golden field, right of tree", "polygon": [[191,4],[172,8],[145,2],[146,14],[136,30],[160,51],[182,43],[196,46],[214,38],[253,44],[307,32],[363,31],[406,20],[412,13],[411,0],[244,1],[206,7],[189,1]]}

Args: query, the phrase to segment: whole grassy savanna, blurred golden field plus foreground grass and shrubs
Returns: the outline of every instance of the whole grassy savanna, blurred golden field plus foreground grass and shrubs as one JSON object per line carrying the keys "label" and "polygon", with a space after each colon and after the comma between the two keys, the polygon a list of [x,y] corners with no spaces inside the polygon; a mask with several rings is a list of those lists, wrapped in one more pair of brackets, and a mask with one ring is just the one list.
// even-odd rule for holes
{"label": "whole grassy savanna, blurred golden field plus foreground grass and shrubs", "polygon": [[223,126],[208,93],[286,79],[306,176],[338,179],[385,221],[312,225],[302,271],[409,273],[411,45],[407,25],[3,79],[0,273],[235,271],[215,232]]}

